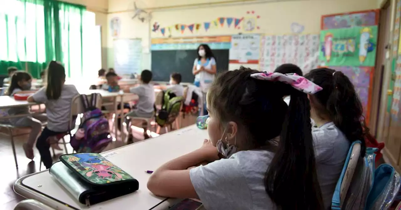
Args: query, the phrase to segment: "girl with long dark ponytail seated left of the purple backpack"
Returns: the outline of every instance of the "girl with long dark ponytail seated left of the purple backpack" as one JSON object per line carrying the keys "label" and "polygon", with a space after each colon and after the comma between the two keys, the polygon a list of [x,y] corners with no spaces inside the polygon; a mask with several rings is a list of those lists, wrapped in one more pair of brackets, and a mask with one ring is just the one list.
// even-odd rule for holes
{"label": "girl with long dark ponytail seated left of the purple backpack", "polygon": [[28,97],[28,102],[44,103],[48,118],[47,126],[43,129],[36,142],[41,159],[46,168],[50,168],[53,160],[49,151],[47,139],[69,131],[69,120],[72,99],[79,95],[77,88],[64,84],[65,69],[59,62],[51,61],[47,67],[47,85]]}

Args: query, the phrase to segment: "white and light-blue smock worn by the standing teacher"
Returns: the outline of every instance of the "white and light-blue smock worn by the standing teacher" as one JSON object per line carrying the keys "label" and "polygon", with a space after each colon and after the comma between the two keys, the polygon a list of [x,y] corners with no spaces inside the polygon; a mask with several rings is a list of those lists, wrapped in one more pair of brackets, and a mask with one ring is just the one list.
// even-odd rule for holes
{"label": "white and light-blue smock worn by the standing teacher", "polygon": [[[198,60],[198,58],[195,59],[194,61],[194,66],[196,66],[196,70],[201,69],[201,66],[203,66],[207,70],[211,70],[212,66],[216,65],[216,60],[215,58],[207,58],[206,62],[204,64],[201,63],[201,60]],[[214,74],[209,74],[205,71],[199,72],[199,74],[195,75],[195,82],[200,83],[200,88],[202,92],[207,92],[212,85],[213,80],[215,79]]]}

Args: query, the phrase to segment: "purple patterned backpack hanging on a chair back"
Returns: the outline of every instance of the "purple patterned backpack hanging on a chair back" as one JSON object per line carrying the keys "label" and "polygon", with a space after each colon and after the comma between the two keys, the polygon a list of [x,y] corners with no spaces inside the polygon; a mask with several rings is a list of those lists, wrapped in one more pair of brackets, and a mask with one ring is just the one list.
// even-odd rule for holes
{"label": "purple patterned backpack hanging on a chair back", "polygon": [[85,94],[81,95],[81,102],[85,112],[81,119],[79,129],[83,128],[85,136],[81,139],[71,138],[71,146],[80,152],[101,152],[112,138],[109,133],[109,121],[103,116],[100,109],[96,108],[97,94],[91,94],[91,103]]}

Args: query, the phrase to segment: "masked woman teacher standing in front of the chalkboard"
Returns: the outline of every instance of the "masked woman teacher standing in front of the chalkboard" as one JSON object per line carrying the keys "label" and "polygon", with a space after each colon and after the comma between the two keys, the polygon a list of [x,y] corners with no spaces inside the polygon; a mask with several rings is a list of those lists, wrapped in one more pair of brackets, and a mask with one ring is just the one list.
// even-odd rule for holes
{"label": "masked woman teacher standing in front of the chalkboard", "polygon": [[[201,44],[197,49],[198,58],[194,61],[192,73],[195,75],[195,86],[201,88],[203,96],[203,115],[208,114],[206,110],[206,93],[215,79],[216,59],[212,50],[207,44]],[[202,115],[202,113],[201,113]]]}

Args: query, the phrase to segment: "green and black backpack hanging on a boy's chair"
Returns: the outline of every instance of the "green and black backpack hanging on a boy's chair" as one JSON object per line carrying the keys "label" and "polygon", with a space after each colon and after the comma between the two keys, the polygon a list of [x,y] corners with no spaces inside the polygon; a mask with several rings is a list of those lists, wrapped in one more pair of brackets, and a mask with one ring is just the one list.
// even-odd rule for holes
{"label": "green and black backpack hanging on a boy's chair", "polygon": [[167,90],[163,96],[162,109],[156,114],[156,122],[159,126],[170,125],[180,114],[181,104],[184,97],[175,96],[171,90]]}

